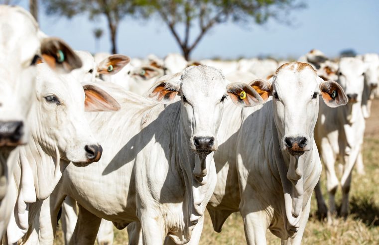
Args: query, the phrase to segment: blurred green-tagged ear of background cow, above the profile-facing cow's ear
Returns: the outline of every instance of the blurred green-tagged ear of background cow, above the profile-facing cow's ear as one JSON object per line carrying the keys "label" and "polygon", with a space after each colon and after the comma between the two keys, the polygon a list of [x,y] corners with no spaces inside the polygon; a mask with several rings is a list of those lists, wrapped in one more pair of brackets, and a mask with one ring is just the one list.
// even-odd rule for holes
{"label": "blurred green-tagged ear of background cow, above the profile-facing cow's ear", "polygon": [[103,75],[114,75],[123,69],[129,62],[130,58],[125,55],[110,55],[100,62],[98,66],[98,73]]}

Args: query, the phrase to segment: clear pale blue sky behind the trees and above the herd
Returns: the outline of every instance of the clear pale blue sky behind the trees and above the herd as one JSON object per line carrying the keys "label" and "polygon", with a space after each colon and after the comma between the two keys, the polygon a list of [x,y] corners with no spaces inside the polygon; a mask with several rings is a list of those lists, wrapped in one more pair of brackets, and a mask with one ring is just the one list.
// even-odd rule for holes
{"label": "clear pale blue sky behind the trees and above the herd", "polygon": [[[233,23],[217,25],[202,39],[192,53],[193,59],[212,57],[238,58],[270,55],[277,58],[298,57],[312,48],[328,56],[341,50],[355,49],[358,53],[379,53],[379,0],[303,0],[305,9],[290,13],[292,25],[275,20],[264,25],[241,26]],[[28,9],[28,1],[19,5]],[[58,36],[74,49],[90,52],[110,51],[107,24],[104,18],[90,21],[87,15],[66,19],[46,16],[40,9],[41,29]],[[100,49],[95,47],[93,29],[105,33]],[[173,36],[157,18],[139,20],[126,17],[119,28],[119,53],[130,57],[145,57],[150,53],[164,57],[179,52]]]}

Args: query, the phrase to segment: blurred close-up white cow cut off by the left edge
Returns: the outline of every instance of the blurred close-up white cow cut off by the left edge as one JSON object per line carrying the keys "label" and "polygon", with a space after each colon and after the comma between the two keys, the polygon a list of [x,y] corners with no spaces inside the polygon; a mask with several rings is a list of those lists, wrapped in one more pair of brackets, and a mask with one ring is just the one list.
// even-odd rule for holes
{"label": "blurred close-up white cow cut off by the left edge", "polygon": [[47,38],[29,12],[0,5],[0,237],[6,229],[15,193],[9,193],[8,176],[16,162],[11,151],[26,143],[25,119],[35,93],[35,64],[45,60],[57,71],[81,66],[80,59],[63,41]]}

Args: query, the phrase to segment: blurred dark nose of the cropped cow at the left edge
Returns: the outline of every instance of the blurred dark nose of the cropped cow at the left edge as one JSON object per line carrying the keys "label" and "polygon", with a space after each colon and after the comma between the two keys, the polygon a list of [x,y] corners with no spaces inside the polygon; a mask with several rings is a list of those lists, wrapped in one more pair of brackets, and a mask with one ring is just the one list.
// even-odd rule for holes
{"label": "blurred dark nose of the cropped cow at the left edge", "polygon": [[20,144],[23,125],[21,121],[0,121],[0,146],[16,146]]}

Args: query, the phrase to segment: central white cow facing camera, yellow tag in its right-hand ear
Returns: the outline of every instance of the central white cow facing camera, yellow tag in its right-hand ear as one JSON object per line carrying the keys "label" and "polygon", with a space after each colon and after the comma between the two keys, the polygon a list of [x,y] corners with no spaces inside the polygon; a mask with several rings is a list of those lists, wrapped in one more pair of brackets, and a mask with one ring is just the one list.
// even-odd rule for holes
{"label": "central white cow facing camera, yellow tag in its right-hand ear", "polygon": [[152,101],[125,92],[118,95],[120,112],[91,117],[103,157],[96,166],[70,165],[51,207],[49,223],[56,224],[64,196],[78,201],[71,243],[93,243],[100,218],[119,229],[141,221],[145,244],[162,244],[166,236],[183,244],[193,229],[198,243],[216,184],[212,152],[218,147],[224,100],[229,95],[240,106],[253,106],[262,99],[246,84],[228,85],[220,71],[208,66],[192,66],[180,82],[179,77],[158,82],[149,93]]}

